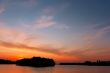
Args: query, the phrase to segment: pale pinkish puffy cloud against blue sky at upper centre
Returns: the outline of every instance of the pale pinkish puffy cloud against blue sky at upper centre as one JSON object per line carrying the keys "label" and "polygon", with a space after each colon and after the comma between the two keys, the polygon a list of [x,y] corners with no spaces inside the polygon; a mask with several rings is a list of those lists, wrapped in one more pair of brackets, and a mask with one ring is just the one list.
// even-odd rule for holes
{"label": "pale pinkish puffy cloud against blue sky at upper centre", "polygon": [[38,17],[32,24],[27,24],[27,28],[32,29],[46,29],[46,28],[52,28],[57,30],[64,30],[69,29],[70,27],[66,24],[62,24],[60,22],[55,21],[54,16],[52,15],[42,15]]}

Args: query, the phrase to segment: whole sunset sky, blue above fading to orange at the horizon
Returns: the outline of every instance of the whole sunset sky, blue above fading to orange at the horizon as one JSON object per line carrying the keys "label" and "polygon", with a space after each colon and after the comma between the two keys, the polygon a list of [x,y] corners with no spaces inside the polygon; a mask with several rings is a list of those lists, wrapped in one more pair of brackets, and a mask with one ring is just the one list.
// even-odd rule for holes
{"label": "whole sunset sky, blue above fading to orange at the horizon", "polygon": [[109,0],[0,0],[0,58],[110,60]]}

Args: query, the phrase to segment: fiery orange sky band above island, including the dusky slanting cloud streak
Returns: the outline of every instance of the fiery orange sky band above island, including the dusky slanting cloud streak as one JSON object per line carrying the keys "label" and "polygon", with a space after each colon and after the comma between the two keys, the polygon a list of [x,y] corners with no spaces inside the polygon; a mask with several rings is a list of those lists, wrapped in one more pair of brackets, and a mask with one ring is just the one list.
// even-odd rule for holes
{"label": "fiery orange sky band above island, including the dusky slanting cloud streak", "polygon": [[[32,56],[40,56],[40,57],[47,57],[47,58],[53,58],[57,62],[61,61],[73,61],[73,60],[79,60],[79,58],[75,56],[67,56],[65,54],[57,54],[53,53],[55,50],[41,50],[36,47],[29,47],[26,45],[17,45],[7,42],[0,42],[0,48],[1,48],[1,58],[4,56],[5,59],[12,59],[17,60],[21,58],[30,58]],[[7,53],[7,54],[6,54]]]}

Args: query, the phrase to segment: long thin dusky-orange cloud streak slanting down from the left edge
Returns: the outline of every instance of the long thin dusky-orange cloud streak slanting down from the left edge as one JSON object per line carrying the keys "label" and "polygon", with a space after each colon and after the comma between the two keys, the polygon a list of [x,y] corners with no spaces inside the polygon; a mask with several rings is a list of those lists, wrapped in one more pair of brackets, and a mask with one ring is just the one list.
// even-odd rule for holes
{"label": "long thin dusky-orange cloud streak slanting down from the left edge", "polygon": [[39,46],[29,46],[27,44],[12,43],[12,42],[6,42],[0,40],[0,47],[1,46],[6,48],[30,49],[30,50],[53,53],[53,54],[61,54],[61,51],[59,51],[59,49],[51,49],[49,47],[41,48]]}

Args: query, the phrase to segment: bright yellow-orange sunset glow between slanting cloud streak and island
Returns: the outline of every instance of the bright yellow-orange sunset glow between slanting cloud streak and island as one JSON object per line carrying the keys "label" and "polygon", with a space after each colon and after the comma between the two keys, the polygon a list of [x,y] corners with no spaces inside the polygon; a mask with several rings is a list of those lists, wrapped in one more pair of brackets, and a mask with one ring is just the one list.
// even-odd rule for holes
{"label": "bright yellow-orange sunset glow between slanting cloud streak and island", "polygon": [[[8,51],[10,50],[10,51]],[[4,52],[8,51],[8,54],[5,54],[4,58],[6,59],[11,59],[11,60],[19,60],[23,58],[31,58],[33,56],[36,57],[47,57],[47,58],[53,58],[55,61],[71,61],[71,60],[78,60],[77,57],[73,56],[67,56],[67,55],[59,55],[59,54],[54,54],[50,52],[43,52],[43,51],[38,51],[37,49],[27,49],[27,48],[5,48],[4,47]],[[3,55],[3,54],[2,54]]]}

